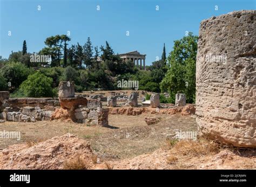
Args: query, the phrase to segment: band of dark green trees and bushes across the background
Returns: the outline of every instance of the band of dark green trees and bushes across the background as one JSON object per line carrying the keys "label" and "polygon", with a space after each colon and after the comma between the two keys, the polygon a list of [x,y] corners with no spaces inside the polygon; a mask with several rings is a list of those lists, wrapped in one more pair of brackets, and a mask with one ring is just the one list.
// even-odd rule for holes
{"label": "band of dark green trees and bushes across the background", "polygon": [[68,47],[71,39],[67,35],[46,38],[45,47],[37,53],[51,55],[50,67],[43,68],[43,63],[30,62],[30,55],[35,53],[27,52],[24,40],[22,51],[11,52],[8,59],[0,56],[0,90],[9,90],[14,97],[56,96],[59,81],[75,81],[79,92],[118,90],[117,81],[124,79],[139,81],[139,90],[169,92],[171,97],[166,102],[174,103],[175,94],[182,92],[192,103],[196,92],[197,40],[192,33],[175,40],[167,57],[164,44],[161,59],[146,66],[146,70],[137,69],[131,60],[120,59],[107,41],[99,49],[90,38],[84,45],[78,42]]}

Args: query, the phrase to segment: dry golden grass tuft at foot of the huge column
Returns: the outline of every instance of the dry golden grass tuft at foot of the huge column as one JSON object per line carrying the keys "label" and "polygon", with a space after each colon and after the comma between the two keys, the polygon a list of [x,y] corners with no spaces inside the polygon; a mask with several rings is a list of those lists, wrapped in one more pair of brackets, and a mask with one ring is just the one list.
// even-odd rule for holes
{"label": "dry golden grass tuft at foot of the huge column", "polygon": [[201,156],[201,155],[212,155],[217,154],[221,150],[218,143],[201,139],[198,141],[193,140],[181,140],[176,143],[171,149],[172,153],[177,155],[187,156]]}

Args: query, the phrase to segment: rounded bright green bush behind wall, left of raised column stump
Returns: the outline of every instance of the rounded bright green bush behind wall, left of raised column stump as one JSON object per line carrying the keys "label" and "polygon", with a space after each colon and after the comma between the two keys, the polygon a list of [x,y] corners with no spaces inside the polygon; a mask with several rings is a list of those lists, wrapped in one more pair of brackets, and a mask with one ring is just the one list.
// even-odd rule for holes
{"label": "rounded bright green bush behind wall, left of raised column stump", "polygon": [[42,73],[29,75],[28,79],[21,84],[21,90],[26,97],[55,97],[55,89],[52,89],[52,78]]}

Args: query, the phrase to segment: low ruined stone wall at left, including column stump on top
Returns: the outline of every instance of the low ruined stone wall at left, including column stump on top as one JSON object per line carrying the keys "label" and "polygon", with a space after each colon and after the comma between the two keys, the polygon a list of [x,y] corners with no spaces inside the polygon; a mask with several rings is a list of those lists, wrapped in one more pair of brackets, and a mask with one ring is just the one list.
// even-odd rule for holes
{"label": "low ruined stone wall at left, including column stump on top", "polygon": [[75,96],[72,81],[59,83],[59,100],[53,98],[9,98],[8,91],[0,92],[0,119],[5,121],[36,122],[59,119],[59,113],[66,111],[66,118],[76,123],[109,125],[109,109],[102,109],[98,99],[87,100]]}

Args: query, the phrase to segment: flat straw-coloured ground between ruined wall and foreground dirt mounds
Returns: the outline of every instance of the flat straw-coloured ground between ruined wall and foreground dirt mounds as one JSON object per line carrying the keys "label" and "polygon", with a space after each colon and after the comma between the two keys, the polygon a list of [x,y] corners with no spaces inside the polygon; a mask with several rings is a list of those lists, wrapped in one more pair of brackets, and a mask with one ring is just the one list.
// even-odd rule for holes
{"label": "flat straw-coloured ground between ruined wall and foreground dirt mounds", "polygon": [[[160,123],[147,125],[145,117],[160,117]],[[72,121],[38,121],[17,123],[6,121],[0,131],[20,131],[21,140],[0,139],[0,149],[15,143],[42,142],[66,133],[76,134],[91,142],[95,153],[108,159],[126,159],[150,153],[166,142],[174,129],[196,131],[196,121],[191,116],[141,114],[139,116],[109,115],[109,127],[86,126]]]}

